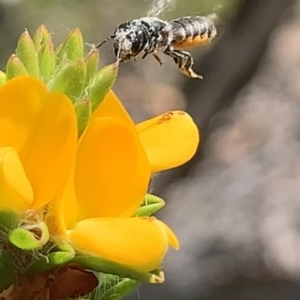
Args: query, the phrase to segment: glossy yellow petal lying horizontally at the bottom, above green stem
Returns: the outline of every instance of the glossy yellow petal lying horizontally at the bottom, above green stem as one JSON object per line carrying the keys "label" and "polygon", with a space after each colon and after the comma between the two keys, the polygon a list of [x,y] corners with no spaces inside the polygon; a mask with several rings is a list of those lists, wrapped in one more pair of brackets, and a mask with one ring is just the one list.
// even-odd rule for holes
{"label": "glossy yellow petal lying horizontally at the bottom, above green stem", "polygon": [[135,269],[160,266],[168,250],[168,233],[155,218],[95,218],[69,232],[71,244],[83,253]]}

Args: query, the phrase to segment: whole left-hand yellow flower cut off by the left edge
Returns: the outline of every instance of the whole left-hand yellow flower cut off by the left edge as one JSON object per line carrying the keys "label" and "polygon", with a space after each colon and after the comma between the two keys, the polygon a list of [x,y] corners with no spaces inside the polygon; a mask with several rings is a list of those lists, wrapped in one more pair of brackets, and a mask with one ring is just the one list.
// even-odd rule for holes
{"label": "whole left-hand yellow flower cut off by the left edge", "polygon": [[39,209],[63,189],[76,151],[76,116],[63,94],[19,77],[0,89],[0,210]]}

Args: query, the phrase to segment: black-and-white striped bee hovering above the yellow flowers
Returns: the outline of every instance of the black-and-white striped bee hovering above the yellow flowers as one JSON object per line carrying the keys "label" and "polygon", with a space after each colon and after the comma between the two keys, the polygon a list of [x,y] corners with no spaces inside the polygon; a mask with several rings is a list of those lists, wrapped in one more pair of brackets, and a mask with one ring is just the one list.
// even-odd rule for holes
{"label": "black-and-white striped bee hovering above the yellow flowers", "polygon": [[192,55],[184,50],[206,44],[216,35],[217,29],[212,16],[182,17],[170,22],[145,17],[119,25],[96,48],[113,39],[114,54],[118,61],[126,62],[143,53],[142,59],[151,54],[160,65],[163,63],[158,53],[163,53],[174,60],[183,74],[202,79],[192,69]]}

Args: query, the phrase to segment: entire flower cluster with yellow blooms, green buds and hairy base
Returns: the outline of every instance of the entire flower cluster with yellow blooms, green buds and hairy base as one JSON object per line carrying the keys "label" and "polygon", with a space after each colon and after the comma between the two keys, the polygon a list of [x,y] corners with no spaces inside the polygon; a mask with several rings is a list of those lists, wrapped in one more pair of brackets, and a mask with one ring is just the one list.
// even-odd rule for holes
{"label": "entire flower cluster with yellow blooms, green buds and hairy base", "polygon": [[134,124],[111,90],[118,64],[97,71],[98,63],[98,50],[84,56],[78,29],[54,49],[41,26],[33,39],[22,34],[0,72],[0,295],[7,299],[79,297],[97,285],[101,299],[120,299],[138,282],[163,282],[168,247],[179,248],[152,216],[165,202],[147,189],[153,174],[193,156],[197,127],[183,111]]}

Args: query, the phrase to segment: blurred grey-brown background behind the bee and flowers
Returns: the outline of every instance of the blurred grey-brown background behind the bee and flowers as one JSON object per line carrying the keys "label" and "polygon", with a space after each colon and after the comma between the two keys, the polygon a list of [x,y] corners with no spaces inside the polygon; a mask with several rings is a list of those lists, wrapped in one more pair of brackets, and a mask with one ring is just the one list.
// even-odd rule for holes
{"label": "blurred grey-brown background behind the bee and flowers", "polygon": [[[219,17],[219,35],[192,50],[188,79],[171,59],[121,65],[115,91],[136,121],[185,109],[201,129],[195,158],[155,177],[159,214],[178,234],[166,282],[128,300],[300,299],[300,2],[296,0],[0,0],[0,69],[22,31],[45,24],[58,45],[79,27],[96,44],[146,16]],[[101,66],[114,61],[101,48]]]}

